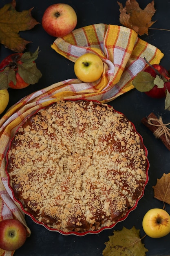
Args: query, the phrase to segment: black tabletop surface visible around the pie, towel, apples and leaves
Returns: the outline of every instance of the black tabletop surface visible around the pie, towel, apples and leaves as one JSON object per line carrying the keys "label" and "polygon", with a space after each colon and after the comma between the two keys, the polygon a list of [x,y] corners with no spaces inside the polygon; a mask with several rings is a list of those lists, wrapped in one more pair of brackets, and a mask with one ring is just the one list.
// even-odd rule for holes
{"label": "black tabletop surface visible around the pie, towel, apples and leaves", "polygon": [[[9,2],[11,1],[1,0],[0,8]],[[116,0],[61,0],[60,2],[70,4],[75,9],[78,19],[76,28],[95,23],[120,25],[119,5]],[[125,4],[126,1],[120,0],[119,2]],[[138,0],[138,2],[141,9],[144,9],[151,0]],[[56,1],[16,0],[16,3],[17,11],[34,7],[32,16],[41,23],[45,9]],[[170,29],[170,0],[155,0],[155,9],[157,11],[152,20],[157,20],[157,22],[152,25],[152,28]],[[8,107],[31,92],[65,79],[75,78],[73,63],[51,49],[51,44],[55,38],[46,34],[41,24],[36,25],[30,31],[20,32],[20,35],[26,40],[32,41],[27,45],[27,51],[34,52],[38,46],[40,47],[36,63],[43,76],[37,84],[29,85],[25,89],[9,89],[10,101]],[[164,53],[160,64],[170,70],[170,31],[149,29],[149,35],[140,38],[155,45]],[[0,45],[0,61],[11,53],[13,53],[11,50],[6,49],[4,45]],[[170,151],[159,139],[155,139],[148,128],[141,124],[141,119],[149,115],[150,112],[154,112],[156,115],[162,115],[164,123],[170,122],[170,112],[164,110],[165,99],[151,99],[144,93],[133,89],[109,104],[116,110],[123,112],[135,124],[137,131],[144,139],[145,146],[148,148],[149,182],[144,197],[139,200],[137,208],[129,214],[126,220],[119,222],[113,229],[104,230],[97,235],[63,236],[57,232],[46,230],[26,216],[26,222],[32,234],[30,238],[27,238],[26,243],[15,251],[15,256],[102,256],[102,250],[105,248],[104,243],[108,241],[108,236],[112,235],[114,230],[121,230],[122,227],[131,229],[135,226],[140,229],[142,237],[144,235],[142,218],[146,211],[155,207],[163,208],[163,203],[154,198],[152,186],[156,184],[157,178],[162,177],[163,173],[170,172]],[[166,210],[170,213],[170,205],[166,204]],[[169,241],[170,234],[158,239],[146,236],[142,240],[149,250],[146,253],[147,256],[170,255]]]}

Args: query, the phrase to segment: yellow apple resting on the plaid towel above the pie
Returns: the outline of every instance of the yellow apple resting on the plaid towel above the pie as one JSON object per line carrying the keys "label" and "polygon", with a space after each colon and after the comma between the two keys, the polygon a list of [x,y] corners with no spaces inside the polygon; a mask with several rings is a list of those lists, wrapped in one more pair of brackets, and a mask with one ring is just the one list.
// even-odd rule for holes
{"label": "yellow apple resting on the plaid towel above the pie", "polygon": [[74,72],[77,78],[83,82],[97,81],[103,73],[102,59],[93,53],[81,55],[74,64]]}

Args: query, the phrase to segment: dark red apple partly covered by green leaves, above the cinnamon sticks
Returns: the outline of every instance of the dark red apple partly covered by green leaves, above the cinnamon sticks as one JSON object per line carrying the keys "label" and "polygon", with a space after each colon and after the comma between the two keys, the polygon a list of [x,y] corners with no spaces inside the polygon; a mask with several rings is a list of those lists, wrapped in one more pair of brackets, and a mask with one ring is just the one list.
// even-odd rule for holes
{"label": "dark red apple partly covered by green leaves, above the cinnamon sticks", "polygon": [[[152,68],[153,67],[153,68]],[[166,90],[170,92],[170,76],[168,74],[168,71],[161,65],[158,64],[153,64],[151,66],[146,67],[144,72],[148,72],[151,76],[156,77],[157,75],[160,76],[160,78],[165,78],[167,81],[164,82],[164,87],[163,88],[158,88],[157,85],[155,85],[150,91],[145,92],[148,96],[152,98],[163,98],[166,97]],[[157,72],[155,71],[158,71]]]}

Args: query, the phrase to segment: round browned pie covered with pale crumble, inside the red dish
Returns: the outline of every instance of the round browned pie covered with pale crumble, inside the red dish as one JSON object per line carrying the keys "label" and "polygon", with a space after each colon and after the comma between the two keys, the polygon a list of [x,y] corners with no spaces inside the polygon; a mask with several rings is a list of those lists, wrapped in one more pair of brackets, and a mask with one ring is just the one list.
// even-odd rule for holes
{"label": "round browned pie covered with pale crumble, inside the red dish", "polygon": [[106,104],[60,101],[18,129],[8,171],[15,197],[49,227],[68,232],[110,226],[141,195],[141,139]]}

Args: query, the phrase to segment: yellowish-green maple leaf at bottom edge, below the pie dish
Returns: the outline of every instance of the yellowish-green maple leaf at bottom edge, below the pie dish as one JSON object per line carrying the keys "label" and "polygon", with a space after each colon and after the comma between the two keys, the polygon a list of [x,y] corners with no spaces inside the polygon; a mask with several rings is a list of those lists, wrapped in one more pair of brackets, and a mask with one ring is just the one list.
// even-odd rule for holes
{"label": "yellowish-green maple leaf at bottom edge, below the pie dish", "polygon": [[139,229],[132,227],[113,231],[113,236],[109,236],[109,241],[105,243],[103,256],[145,256],[148,249],[141,243]]}

